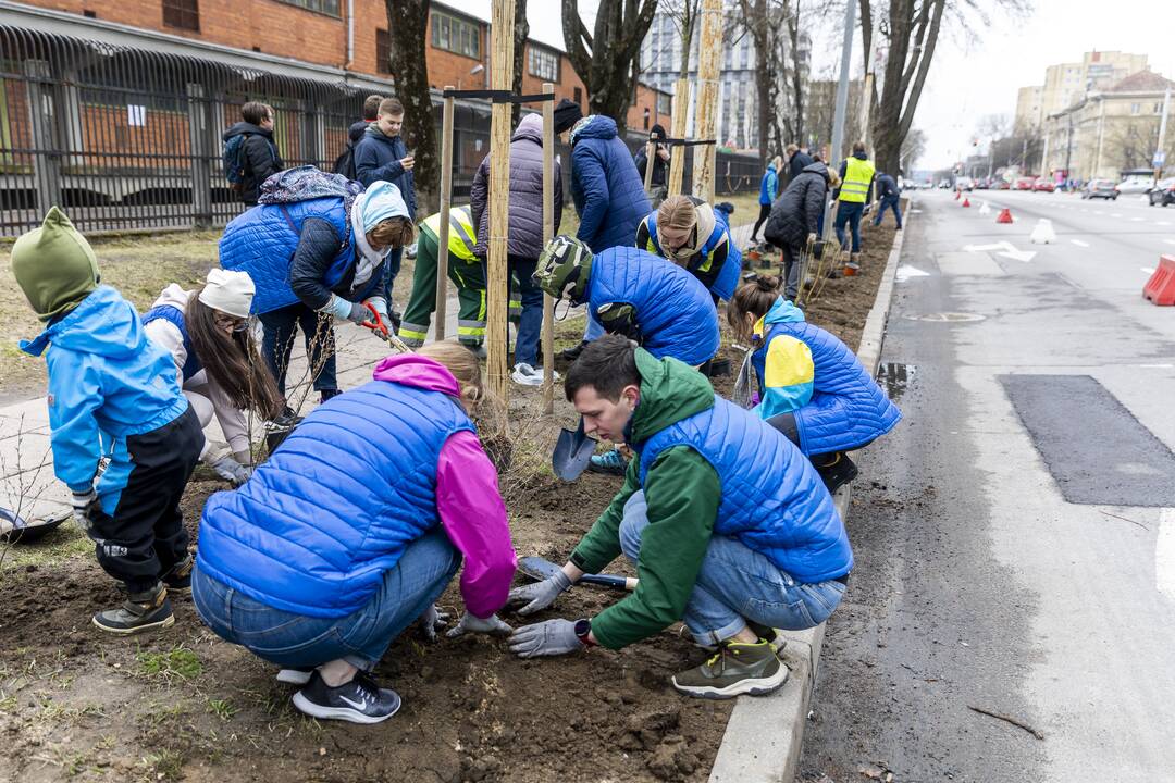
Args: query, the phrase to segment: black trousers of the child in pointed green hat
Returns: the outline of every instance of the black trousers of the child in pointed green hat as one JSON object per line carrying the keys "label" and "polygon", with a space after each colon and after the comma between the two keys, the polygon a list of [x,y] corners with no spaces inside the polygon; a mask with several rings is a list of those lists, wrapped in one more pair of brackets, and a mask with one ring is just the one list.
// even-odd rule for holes
{"label": "black trousers of the child in pointed green hat", "polygon": [[203,446],[192,406],[157,430],[128,437],[134,467],[114,515],[90,506],[89,536],[98,563],[132,593],[150,589],[188,555],[180,499]]}

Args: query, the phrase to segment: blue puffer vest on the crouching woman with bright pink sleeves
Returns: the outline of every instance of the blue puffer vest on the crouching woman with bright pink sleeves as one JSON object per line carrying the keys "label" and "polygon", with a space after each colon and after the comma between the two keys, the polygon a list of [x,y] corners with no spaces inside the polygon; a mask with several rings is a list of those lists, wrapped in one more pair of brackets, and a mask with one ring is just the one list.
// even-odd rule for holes
{"label": "blue puffer vest on the crouching woman with bright pink sleeves", "polygon": [[356,612],[405,546],[439,524],[441,448],[472,428],[438,391],[372,380],[335,397],[243,487],[208,499],[201,571],[277,609]]}

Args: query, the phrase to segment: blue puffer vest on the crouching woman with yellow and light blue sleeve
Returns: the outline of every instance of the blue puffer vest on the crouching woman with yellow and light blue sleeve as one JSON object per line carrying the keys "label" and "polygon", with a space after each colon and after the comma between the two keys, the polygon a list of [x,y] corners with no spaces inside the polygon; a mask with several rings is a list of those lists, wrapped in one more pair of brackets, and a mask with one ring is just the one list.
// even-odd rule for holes
{"label": "blue puffer vest on the crouching woman with yellow and light blue sleeve", "polygon": [[763,393],[767,346],[778,335],[788,335],[812,351],[812,399],[795,411],[795,428],[805,454],[826,454],[860,448],[889,432],[901,411],[889,401],[848,346],[806,322],[772,325],[751,362]]}

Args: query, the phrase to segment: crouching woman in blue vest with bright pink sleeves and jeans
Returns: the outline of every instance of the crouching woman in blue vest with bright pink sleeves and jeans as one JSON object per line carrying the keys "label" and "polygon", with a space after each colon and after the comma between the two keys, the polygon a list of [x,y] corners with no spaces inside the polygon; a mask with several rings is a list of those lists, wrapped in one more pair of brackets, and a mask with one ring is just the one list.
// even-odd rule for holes
{"label": "crouching woman in blue vest with bright pink sleeves and jeans", "polygon": [[423,617],[465,558],[450,636],[509,633],[515,572],[497,471],[466,412],[481,367],[458,343],[381,362],[374,380],[315,409],[240,490],[208,499],[193,599],[221,637],[284,667],[294,706],[378,723],[400,696],[371,669]]}

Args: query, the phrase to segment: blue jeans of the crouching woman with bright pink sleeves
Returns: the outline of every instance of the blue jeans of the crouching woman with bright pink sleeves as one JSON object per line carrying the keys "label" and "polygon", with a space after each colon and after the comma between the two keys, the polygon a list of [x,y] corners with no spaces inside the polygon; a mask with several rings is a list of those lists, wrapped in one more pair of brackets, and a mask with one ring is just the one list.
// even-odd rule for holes
{"label": "blue jeans of the crouching woman with bright pink sleeves", "polygon": [[310,668],[342,659],[370,671],[391,642],[444,592],[461,554],[444,531],[408,545],[383,585],[355,613],[310,617],[275,609],[204,574],[192,573],[200,619],[221,639],[283,667]]}

